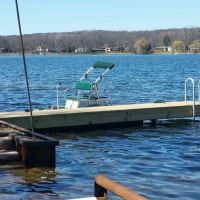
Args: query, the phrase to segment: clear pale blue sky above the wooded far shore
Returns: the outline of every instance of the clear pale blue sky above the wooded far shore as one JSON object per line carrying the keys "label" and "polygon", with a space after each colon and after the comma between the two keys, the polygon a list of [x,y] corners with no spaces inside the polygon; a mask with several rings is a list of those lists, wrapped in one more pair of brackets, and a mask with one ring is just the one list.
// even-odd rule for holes
{"label": "clear pale blue sky above the wooded far shore", "polygon": [[[23,34],[200,27],[200,0],[18,0]],[[15,0],[0,0],[0,35],[19,35]]]}

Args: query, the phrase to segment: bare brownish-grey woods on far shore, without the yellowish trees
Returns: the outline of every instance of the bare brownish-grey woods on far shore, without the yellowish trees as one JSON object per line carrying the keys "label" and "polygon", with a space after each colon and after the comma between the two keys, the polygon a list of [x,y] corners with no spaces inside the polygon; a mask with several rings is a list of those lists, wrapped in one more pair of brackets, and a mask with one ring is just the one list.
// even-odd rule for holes
{"label": "bare brownish-grey woods on far shore, without the yellowish trees", "polygon": [[[76,48],[98,49],[108,46],[112,49],[134,50],[134,45],[140,38],[145,38],[151,47],[163,45],[163,37],[168,35],[171,43],[182,40],[186,47],[194,40],[200,39],[200,28],[167,29],[154,31],[107,31],[88,30],[63,33],[36,33],[23,35],[26,51],[34,51],[38,46],[42,49],[56,48],[59,51],[71,52]],[[0,36],[0,48],[9,47],[19,52],[19,36]]]}

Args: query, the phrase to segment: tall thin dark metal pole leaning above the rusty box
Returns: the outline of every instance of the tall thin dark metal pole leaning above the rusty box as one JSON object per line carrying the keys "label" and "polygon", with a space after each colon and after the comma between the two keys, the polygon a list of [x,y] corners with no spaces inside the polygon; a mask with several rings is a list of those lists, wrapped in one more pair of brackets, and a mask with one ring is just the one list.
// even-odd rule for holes
{"label": "tall thin dark metal pole leaning above the rusty box", "polygon": [[20,38],[21,38],[21,45],[22,45],[22,55],[23,55],[23,62],[24,62],[24,73],[25,73],[26,88],[27,88],[27,93],[28,93],[28,102],[29,102],[32,134],[33,134],[33,139],[35,139],[35,132],[34,132],[34,127],[33,127],[33,115],[32,115],[32,106],[31,106],[31,97],[30,97],[30,91],[29,91],[28,76],[27,76],[27,71],[26,71],[26,60],[25,60],[25,54],[24,54],[24,44],[23,44],[23,39],[22,39],[22,31],[21,31],[21,24],[20,24],[20,17],[19,17],[19,9],[18,9],[17,0],[15,0],[15,4],[16,4],[16,11],[17,11],[19,33],[20,33]]}

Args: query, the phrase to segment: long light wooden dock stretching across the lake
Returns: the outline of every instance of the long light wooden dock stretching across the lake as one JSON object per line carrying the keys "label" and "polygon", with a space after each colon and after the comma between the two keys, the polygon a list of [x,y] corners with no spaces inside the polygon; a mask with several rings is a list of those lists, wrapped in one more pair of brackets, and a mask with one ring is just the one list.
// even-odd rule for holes
{"label": "long light wooden dock stretching across the lake", "polygon": [[[200,116],[200,102],[179,101],[33,111],[33,123],[36,129],[42,129],[185,118],[194,114]],[[29,112],[1,112],[0,120],[31,129]]]}

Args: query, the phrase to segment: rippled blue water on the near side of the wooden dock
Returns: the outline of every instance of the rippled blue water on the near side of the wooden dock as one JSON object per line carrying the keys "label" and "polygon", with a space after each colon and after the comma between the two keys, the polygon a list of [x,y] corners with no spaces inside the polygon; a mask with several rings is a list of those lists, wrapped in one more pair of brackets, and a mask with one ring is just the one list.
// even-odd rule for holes
{"label": "rippled blue water on the near side of the wooden dock", "polygon": [[[102,174],[149,199],[199,199],[199,122],[194,126],[159,121],[141,127],[46,134],[60,139],[56,168],[1,167],[2,195],[11,199],[90,197],[94,177]],[[110,193],[109,197],[119,199]]]}

